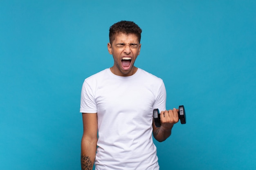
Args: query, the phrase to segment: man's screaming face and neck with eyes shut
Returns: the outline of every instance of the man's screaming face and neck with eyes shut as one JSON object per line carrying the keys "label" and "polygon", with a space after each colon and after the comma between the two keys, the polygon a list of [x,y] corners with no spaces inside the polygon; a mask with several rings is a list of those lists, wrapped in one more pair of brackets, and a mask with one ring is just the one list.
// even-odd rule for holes
{"label": "man's screaming face and neck with eyes shut", "polygon": [[112,44],[108,43],[108,52],[113,55],[112,73],[119,76],[133,75],[137,68],[134,62],[139,55],[140,46],[135,34],[117,33]]}

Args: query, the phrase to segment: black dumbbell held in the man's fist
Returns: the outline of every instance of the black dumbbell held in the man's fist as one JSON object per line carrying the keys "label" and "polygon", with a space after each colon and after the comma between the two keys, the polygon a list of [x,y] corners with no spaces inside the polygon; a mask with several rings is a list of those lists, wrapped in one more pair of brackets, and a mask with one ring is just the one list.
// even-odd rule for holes
{"label": "black dumbbell held in the man's fist", "polygon": [[[186,113],[183,105],[179,106],[178,115],[179,115],[180,123],[186,124]],[[154,117],[155,126],[160,127],[161,121],[160,121],[160,113],[158,108],[153,110],[153,117]]]}

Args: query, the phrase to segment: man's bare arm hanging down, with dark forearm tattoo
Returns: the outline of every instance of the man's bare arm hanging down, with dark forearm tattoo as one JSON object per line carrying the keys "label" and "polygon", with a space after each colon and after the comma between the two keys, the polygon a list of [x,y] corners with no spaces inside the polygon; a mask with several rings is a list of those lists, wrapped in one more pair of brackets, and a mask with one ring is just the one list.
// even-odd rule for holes
{"label": "man's bare arm hanging down, with dark forearm tattoo", "polygon": [[82,113],[81,170],[92,170],[97,149],[97,113]]}

